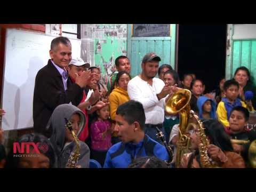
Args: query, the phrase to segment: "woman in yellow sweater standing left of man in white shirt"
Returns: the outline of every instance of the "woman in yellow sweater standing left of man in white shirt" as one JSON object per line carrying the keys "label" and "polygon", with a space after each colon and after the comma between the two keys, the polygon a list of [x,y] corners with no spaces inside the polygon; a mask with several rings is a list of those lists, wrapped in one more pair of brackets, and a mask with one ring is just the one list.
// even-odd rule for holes
{"label": "woman in yellow sweater standing left of man in white shirt", "polygon": [[[114,126],[116,110],[119,105],[130,100],[127,85],[131,80],[131,76],[126,71],[120,71],[116,76],[116,81],[113,87],[111,87],[110,95],[109,95],[109,105],[110,105],[110,118],[113,121],[112,127]],[[113,133],[112,143],[118,142],[117,135]]]}

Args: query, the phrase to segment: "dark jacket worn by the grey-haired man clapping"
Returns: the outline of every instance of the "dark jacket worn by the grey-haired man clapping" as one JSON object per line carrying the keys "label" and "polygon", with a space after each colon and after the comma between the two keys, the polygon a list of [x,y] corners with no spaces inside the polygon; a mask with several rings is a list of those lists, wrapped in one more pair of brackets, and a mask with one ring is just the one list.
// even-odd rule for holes
{"label": "dark jacket worn by the grey-haired man clapping", "polygon": [[77,106],[83,97],[83,89],[67,80],[67,90],[64,90],[62,76],[53,66],[49,59],[48,64],[40,69],[36,75],[34,100],[33,100],[33,121],[34,130],[49,137],[46,132],[46,125],[53,110],[63,104],[72,102]]}

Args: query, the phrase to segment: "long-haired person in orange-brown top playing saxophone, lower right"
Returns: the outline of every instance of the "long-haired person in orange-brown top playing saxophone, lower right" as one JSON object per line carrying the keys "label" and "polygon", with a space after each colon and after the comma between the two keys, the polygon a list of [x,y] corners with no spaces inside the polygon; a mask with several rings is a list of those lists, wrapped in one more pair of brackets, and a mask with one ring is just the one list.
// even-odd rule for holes
{"label": "long-haired person in orange-brown top playing saxophone, lower right", "polygon": [[[244,160],[234,152],[230,138],[223,125],[215,119],[208,119],[203,121],[203,126],[205,127],[205,135],[210,141],[210,145],[207,146],[207,154],[212,161],[222,168],[244,168]],[[199,138],[196,133],[191,134],[190,138],[191,148],[194,149],[194,152],[184,154],[181,159],[181,167],[201,168],[202,164],[198,149]]]}

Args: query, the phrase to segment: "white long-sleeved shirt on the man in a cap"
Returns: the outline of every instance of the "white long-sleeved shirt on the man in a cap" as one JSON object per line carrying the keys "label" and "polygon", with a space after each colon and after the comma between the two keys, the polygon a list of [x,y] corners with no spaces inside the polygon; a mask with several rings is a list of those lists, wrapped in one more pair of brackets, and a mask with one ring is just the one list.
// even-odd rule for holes
{"label": "white long-sleeved shirt on the man in a cap", "polygon": [[128,83],[129,98],[142,103],[146,115],[146,124],[156,125],[164,122],[165,98],[158,100],[156,96],[162,91],[163,87],[164,82],[155,77],[152,86],[139,76],[132,78]]}

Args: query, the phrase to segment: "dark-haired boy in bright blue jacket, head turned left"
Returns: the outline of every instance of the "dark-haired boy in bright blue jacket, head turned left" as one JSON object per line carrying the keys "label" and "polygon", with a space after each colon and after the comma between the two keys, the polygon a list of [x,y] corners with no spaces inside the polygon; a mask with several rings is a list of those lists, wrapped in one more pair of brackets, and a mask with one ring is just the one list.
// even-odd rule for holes
{"label": "dark-haired boy in bright blue jacket, head turned left", "polygon": [[130,100],[117,108],[114,131],[122,142],[108,150],[104,168],[126,168],[133,159],[145,156],[169,160],[166,148],[143,131],[145,120],[145,111],[138,101]]}

